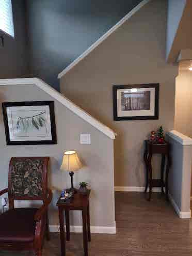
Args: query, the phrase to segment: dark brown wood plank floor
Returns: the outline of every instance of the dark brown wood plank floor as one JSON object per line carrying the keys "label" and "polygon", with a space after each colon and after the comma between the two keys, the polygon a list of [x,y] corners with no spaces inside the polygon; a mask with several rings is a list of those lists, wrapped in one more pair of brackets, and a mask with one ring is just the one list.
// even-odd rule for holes
{"label": "dark brown wood plank floor", "polygon": [[[116,192],[116,235],[92,234],[90,256],[191,256],[192,221],[180,219],[160,193]],[[71,234],[66,256],[83,256],[82,234]],[[4,256],[27,253],[0,252]],[[60,256],[59,233],[45,242],[43,256]]]}

